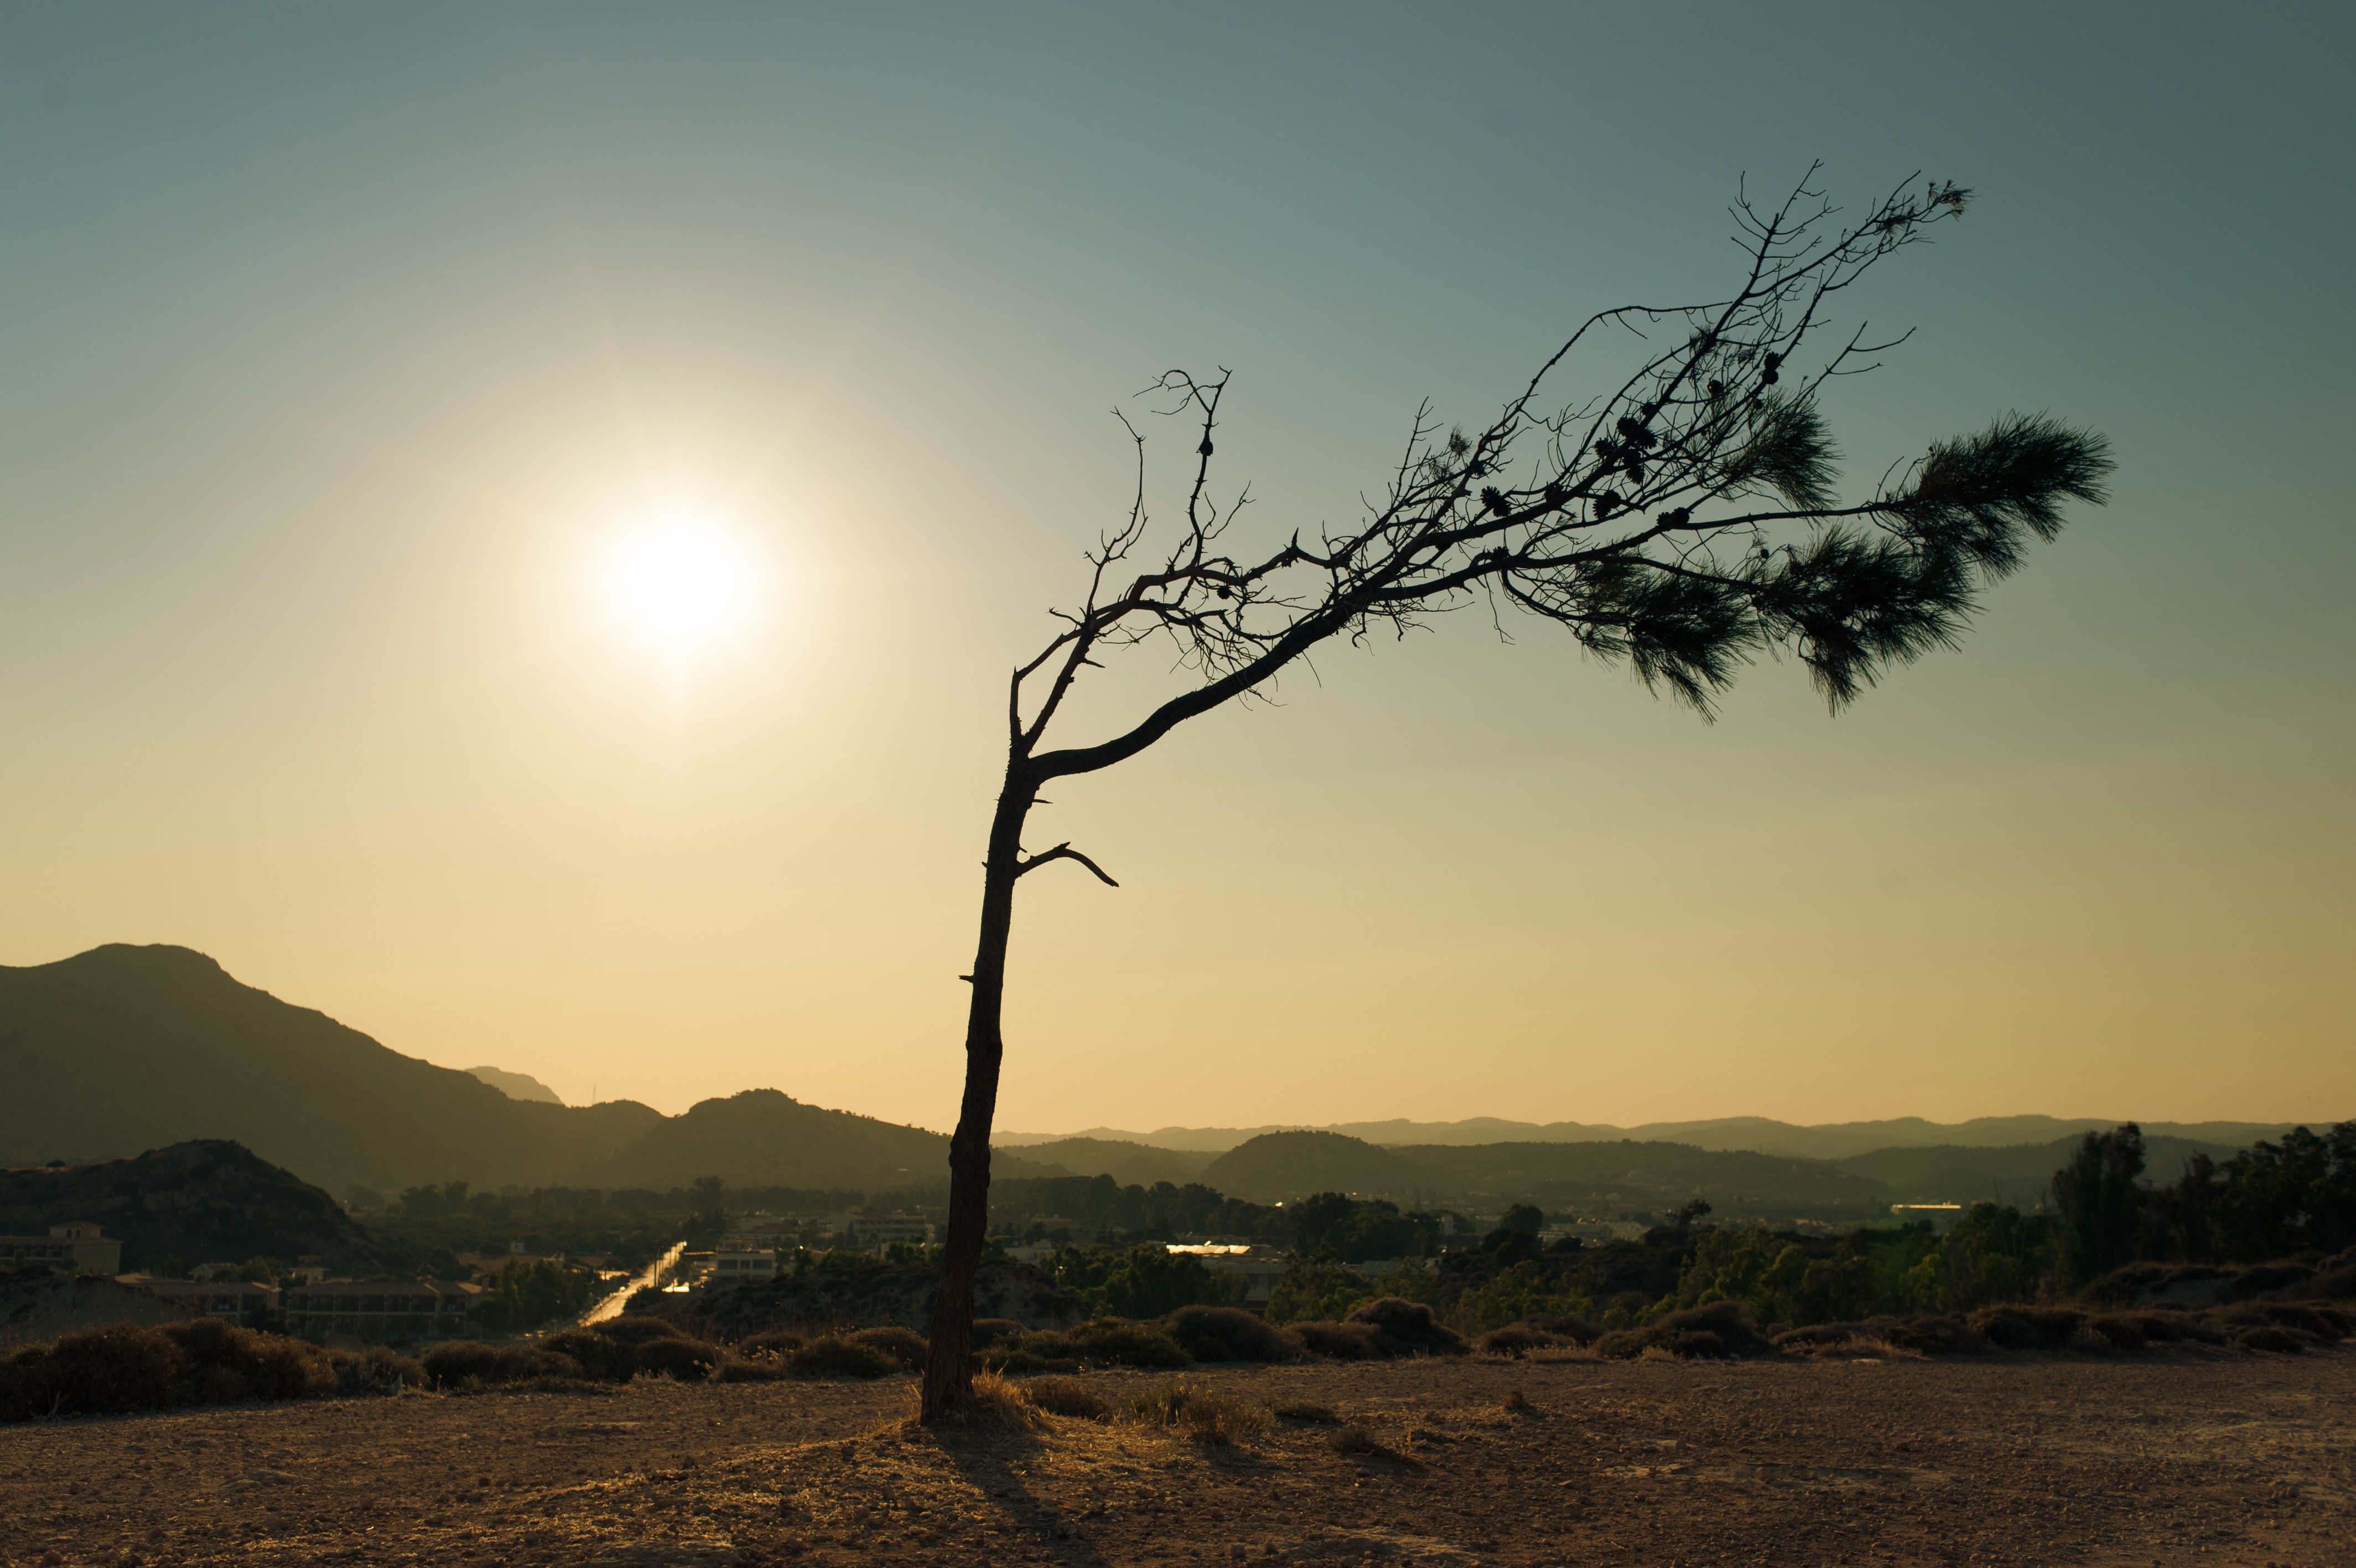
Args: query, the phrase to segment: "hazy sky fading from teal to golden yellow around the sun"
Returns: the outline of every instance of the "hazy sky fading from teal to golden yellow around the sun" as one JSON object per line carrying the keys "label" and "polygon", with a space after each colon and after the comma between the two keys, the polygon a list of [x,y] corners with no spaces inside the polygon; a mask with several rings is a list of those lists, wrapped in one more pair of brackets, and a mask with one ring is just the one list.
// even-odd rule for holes
{"label": "hazy sky fading from teal to golden yellow around the sun", "polygon": [[[2043,408],[2113,505],[1840,719],[1463,615],[1067,780],[1034,842],[1124,887],[1023,884],[999,1125],[2356,1115],[2351,45],[0,5],[0,962],[186,943],[570,1101],[947,1127],[1004,672],[1126,502],[1107,410],[1227,365],[1256,538],[1348,521],[1418,398],[1484,422],[1588,311],[1720,292],[1736,179],[1824,158],[1852,210],[1981,193],[1854,302],[1918,332],[1828,406],[1852,490]],[[693,655],[608,580],[674,516],[747,561]]]}

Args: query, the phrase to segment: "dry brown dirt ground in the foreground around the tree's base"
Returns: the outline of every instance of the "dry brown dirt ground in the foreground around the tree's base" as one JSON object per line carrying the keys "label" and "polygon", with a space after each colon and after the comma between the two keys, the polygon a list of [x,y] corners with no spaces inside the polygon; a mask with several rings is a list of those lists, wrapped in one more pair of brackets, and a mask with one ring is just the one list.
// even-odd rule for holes
{"label": "dry brown dirt ground in the foreground around the tree's base", "polygon": [[905,1377],[243,1405],[0,1429],[0,1561],[2356,1563],[2356,1351],[1192,1377],[1390,1452],[940,1441]]}

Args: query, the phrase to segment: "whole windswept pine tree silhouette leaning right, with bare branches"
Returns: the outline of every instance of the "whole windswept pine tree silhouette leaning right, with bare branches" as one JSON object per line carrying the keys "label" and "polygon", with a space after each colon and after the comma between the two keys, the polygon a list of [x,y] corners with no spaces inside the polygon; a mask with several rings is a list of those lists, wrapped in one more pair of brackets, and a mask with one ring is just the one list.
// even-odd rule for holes
{"label": "whole windswept pine tree silhouette leaning right, with bare branches", "polygon": [[[1404,634],[1480,604],[1498,618],[1510,608],[1562,625],[1703,717],[1760,653],[1795,655],[1838,712],[1892,665],[1955,646],[1977,589],[2019,568],[2031,538],[2059,533],[2064,500],[2104,500],[2102,436],[2012,413],[1979,434],[1934,441],[1892,465],[1868,500],[1838,505],[1819,391],[1871,370],[1904,337],[1868,342],[1859,325],[1831,340],[1812,370],[1798,356],[1831,330],[1842,290],[1958,217],[1970,193],[1908,179],[1840,226],[1814,174],[1772,210],[1736,198],[1743,278],[1729,297],[1590,316],[1477,434],[1442,436],[1425,403],[1355,528],[1324,528],[1315,540],[1293,533],[1268,554],[1230,545],[1237,507],[1211,495],[1227,373],[1171,370],[1147,391],[1169,394],[1162,413],[1185,415],[1202,441],[1185,521],[1166,549],[1145,556],[1145,439],[1121,420],[1138,448],[1136,500],[1088,554],[1079,608],[1055,611],[1063,627],[1006,693],[1006,780],[990,823],[980,943],[964,976],[973,986],[966,1092],[949,1146],[924,1419],[952,1415],[971,1391],[1015,882],[1077,861],[1119,887],[1072,844],[1023,849],[1048,780],[1136,757],[1329,639]],[[1541,408],[1548,377],[1609,328],[1633,332],[1633,368],[1588,401]],[[1659,347],[1647,328],[1668,328],[1673,342]],[[1119,733],[1051,747],[1074,681],[1100,655],[1152,639],[1169,639],[1194,684]]]}

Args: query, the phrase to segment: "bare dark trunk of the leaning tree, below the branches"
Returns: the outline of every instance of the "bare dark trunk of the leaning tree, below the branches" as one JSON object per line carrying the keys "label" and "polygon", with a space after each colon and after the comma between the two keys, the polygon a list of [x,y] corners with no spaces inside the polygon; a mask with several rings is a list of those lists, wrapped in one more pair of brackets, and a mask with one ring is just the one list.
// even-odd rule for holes
{"label": "bare dark trunk of the leaning tree, below the branches", "polygon": [[1032,783],[1023,759],[1008,757],[1006,788],[990,821],[982,861],[982,936],[973,953],[973,1004],[966,1012],[966,1101],[949,1139],[949,1228],[940,1250],[940,1299],[924,1358],[924,1417],[938,1422],[973,1394],[973,1276],[990,1231],[990,1125],[999,1108],[999,1009],[1006,1000],[1006,936],[1015,915],[1015,875],[1023,858],[1023,818]]}

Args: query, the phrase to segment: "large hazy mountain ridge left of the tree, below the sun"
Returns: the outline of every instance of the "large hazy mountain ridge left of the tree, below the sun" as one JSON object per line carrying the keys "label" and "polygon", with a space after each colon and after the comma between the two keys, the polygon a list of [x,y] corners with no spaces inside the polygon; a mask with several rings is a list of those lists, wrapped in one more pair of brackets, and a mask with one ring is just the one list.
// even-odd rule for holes
{"label": "large hazy mountain ridge left of the tree, below the sun", "polygon": [[[233,1139],[330,1191],[933,1188],[949,1139],[747,1089],[667,1118],[523,1101],[233,981],[188,948],[113,943],[0,967],[0,1165],[90,1165]],[[1008,1174],[1053,1174],[1013,1155]]]}

